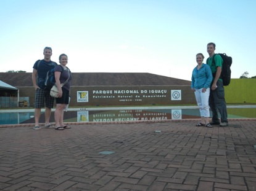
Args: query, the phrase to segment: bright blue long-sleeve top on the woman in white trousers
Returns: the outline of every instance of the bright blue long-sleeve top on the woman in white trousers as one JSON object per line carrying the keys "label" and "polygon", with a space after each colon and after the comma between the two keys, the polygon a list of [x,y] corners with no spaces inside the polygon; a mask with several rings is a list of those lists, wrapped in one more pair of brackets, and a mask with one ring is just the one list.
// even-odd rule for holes
{"label": "bright blue long-sleeve top on the woman in white trousers", "polygon": [[212,71],[210,66],[204,63],[199,69],[197,69],[196,66],[192,71],[191,81],[191,88],[209,88],[212,83]]}

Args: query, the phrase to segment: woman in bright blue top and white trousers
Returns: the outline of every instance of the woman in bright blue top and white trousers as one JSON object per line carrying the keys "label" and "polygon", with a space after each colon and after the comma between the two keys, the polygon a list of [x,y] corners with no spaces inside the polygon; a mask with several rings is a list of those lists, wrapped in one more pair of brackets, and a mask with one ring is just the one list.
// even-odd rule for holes
{"label": "woman in bright blue top and white trousers", "polygon": [[203,63],[204,55],[198,53],[196,55],[197,66],[192,72],[191,89],[196,96],[196,102],[199,106],[201,122],[197,123],[197,127],[204,126],[212,127],[209,123],[210,110],[209,110],[209,95],[210,84],[212,82],[212,71],[210,66]]}

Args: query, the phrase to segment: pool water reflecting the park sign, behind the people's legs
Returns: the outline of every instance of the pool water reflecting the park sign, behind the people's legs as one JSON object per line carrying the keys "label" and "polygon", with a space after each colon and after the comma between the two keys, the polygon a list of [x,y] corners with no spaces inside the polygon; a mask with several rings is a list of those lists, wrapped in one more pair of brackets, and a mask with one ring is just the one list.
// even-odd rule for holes
{"label": "pool water reflecting the park sign, behind the people's legs", "polygon": [[[0,124],[34,123],[34,112],[0,112]],[[228,118],[255,118],[256,108],[228,108]],[[122,122],[141,120],[200,119],[199,109],[115,109],[64,112],[65,122]],[[54,122],[54,112],[51,115]],[[44,113],[40,116],[44,123]]]}

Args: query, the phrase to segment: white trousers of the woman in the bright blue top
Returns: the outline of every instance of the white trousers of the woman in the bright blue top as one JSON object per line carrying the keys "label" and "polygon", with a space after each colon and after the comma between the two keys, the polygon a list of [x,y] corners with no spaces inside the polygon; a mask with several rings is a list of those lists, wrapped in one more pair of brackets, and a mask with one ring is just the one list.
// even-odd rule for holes
{"label": "white trousers of the woman in the bright blue top", "polygon": [[210,111],[209,111],[210,88],[207,88],[206,92],[204,93],[202,93],[202,88],[196,90],[195,96],[196,96],[197,106],[199,106],[201,117],[210,117]]}

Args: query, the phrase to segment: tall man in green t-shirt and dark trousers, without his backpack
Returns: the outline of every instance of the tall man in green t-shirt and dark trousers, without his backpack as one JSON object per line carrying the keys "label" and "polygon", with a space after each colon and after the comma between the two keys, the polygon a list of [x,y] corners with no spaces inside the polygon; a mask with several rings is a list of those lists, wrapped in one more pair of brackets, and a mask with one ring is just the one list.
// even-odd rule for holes
{"label": "tall man in green t-shirt and dark trousers, without his backpack", "polygon": [[[212,110],[212,122],[210,122],[210,124],[226,127],[228,126],[228,112],[226,109],[225,90],[222,79],[220,79],[223,60],[220,55],[215,55],[215,64],[212,64],[213,55],[215,54],[215,47],[216,45],[213,42],[207,44],[207,52],[209,53],[207,64],[209,64],[213,75],[209,97],[209,106]],[[221,121],[218,118],[218,111],[220,112]]]}

